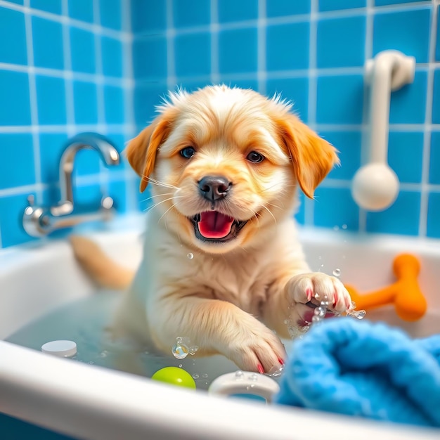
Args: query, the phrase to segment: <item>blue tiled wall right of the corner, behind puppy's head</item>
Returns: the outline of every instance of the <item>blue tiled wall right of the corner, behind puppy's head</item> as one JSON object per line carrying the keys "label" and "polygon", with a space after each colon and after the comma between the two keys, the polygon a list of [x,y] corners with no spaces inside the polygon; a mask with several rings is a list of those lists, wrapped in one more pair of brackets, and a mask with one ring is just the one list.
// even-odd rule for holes
{"label": "blue tiled wall right of the corner, behind puppy's head", "polygon": [[[165,91],[179,85],[193,90],[225,82],[268,96],[282,93],[304,122],[335,145],[341,160],[341,167],[332,170],[316,191],[316,200],[302,197],[300,223],[432,236],[427,223],[420,222],[428,217],[432,221],[435,215],[440,221],[440,216],[428,216],[420,209],[427,209],[421,202],[423,193],[440,191],[431,177],[434,171],[428,175],[425,164],[430,131],[440,124],[440,70],[434,69],[432,75],[436,65],[429,58],[431,53],[439,59],[440,49],[429,46],[436,4],[396,0],[377,0],[373,5],[366,0],[148,3],[152,15],[139,0],[131,11],[134,110],[139,128],[153,118],[154,105]],[[216,9],[210,10],[212,6]],[[167,23],[167,17],[172,22]],[[154,63],[145,59],[153,48],[138,47],[146,38],[162,38],[162,58],[156,55]],[[402,191],[392,209],[365,214],[350,192],[351,179],[368,157],[369,94],[363,66],[385,49],[403,51],[417,63],[413,84],[395,91],[390,103],[388,158]],[[436,157],[434,144],[431,156]],[[338,209],[333,208],[335,200]],[[411,214],[405,221],[396,221],[406,209]]]}

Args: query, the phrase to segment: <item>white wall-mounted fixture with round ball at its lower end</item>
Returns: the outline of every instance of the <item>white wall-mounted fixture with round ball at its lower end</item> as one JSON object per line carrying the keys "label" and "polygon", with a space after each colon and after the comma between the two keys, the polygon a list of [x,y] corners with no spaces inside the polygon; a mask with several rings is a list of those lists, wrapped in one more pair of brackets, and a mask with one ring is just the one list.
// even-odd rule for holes
{"label": "white wall-mounted fixture with round ball at its lower end", "polygon": [[389,101],[391,92],[414,80],[415,58],[399,51],[382,51],[365,63],[370,84],[370,163],[353,179],[351,193],[368,211],[391,206],[399,194],[399,179],[388,166]]}

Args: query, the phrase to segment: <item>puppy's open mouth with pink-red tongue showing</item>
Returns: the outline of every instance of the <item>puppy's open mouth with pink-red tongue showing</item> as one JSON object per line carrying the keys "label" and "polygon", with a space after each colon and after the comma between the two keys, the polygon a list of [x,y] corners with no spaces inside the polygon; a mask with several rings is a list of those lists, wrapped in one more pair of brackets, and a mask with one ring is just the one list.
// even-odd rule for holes
{"label": "puppy's open mouth with pink-red tongue showing", "polygon": [[219,211],[205,211],[193,216],[195,236],[199,240],[209,242],[225,242],[233,240],[247,221],[233,219]]}

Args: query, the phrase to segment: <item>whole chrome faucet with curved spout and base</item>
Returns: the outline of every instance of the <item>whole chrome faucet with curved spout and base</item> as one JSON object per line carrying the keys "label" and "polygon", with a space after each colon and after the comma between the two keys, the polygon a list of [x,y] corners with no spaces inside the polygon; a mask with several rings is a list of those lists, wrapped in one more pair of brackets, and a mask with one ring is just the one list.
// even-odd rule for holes
{"label": "whole chrome faucet with curved spout and base", "polygon": [[104,136],[96,133],[81,133],[70,138],[60,159],[61,200],[58,205],[48,208],[34,206],[34,196],[30,195],[27,198],[29,206],[23,214],[23,228],[32,237],[42,237],[56,229],[75,226],[84,221],[108,220],[112,216],[114,209],[110,197],[101,200],[101,207],[97,212],[69,216],[75,207],[72,172],[79,150],[95,150],[108,167],[119,164],[119,153]]}

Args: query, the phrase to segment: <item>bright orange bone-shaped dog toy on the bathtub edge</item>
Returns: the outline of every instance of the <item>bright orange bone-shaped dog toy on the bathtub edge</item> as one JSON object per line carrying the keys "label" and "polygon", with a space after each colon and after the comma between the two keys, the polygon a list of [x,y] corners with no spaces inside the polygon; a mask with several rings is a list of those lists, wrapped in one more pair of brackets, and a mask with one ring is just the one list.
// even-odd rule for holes
{"label": "bright orange bone-shaped dog toy on the bathtub edge", "polygon": [[375,292],[360,295],[354,287],[346,285],[356,309],[373,309],[394,304],[397,315],[404,321],[417,321],[427,309],[427,302],[418,285],[420,263],[410,254],[400,254],[393,261],[396,283]]}

